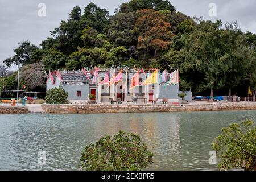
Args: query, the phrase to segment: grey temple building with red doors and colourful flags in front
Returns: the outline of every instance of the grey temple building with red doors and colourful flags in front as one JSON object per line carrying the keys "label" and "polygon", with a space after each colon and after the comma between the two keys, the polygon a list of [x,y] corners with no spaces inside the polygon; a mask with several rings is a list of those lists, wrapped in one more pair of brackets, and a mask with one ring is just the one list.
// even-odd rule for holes
{"label": "grey temple building with red doors and colourful flags in front", "polygon": [[[160,71],[155,70],[147,73],[143,69],[138,71],[98,68],[82,68],[82,71],[49,71],[47,90],[61,86],[68,92],[68,100],[71,102],[88,101],[89,94],[96,96],[96,103],[109,102],[110,99],[131,102],[133,98],[144,103],[160,101],[163,98],[168,99],[168,102],[178,102],[178,75],[175,77],[177,81],[172,81],[172,74],[160,74]],[[167,80],[170,80],[170,83]],[[191,97],[187,96],[187,99],[190,101]]]}

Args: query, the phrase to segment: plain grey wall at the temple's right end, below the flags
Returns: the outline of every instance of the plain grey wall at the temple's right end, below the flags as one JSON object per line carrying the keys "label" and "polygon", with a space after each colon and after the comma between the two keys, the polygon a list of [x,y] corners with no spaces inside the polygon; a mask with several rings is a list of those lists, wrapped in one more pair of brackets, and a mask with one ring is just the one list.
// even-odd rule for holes
{"label": "plain grey wall at the temple's right end, below the flags", "polygon": [[179,96],[179,85],[159,85],[159,98],[172,98],[177,99]]}

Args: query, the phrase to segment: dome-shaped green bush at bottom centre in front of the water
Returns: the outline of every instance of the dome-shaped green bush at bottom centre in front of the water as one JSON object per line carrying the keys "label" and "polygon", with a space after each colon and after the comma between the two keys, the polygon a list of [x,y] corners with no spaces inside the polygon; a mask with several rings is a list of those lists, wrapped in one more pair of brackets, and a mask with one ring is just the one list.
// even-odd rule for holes
{"label": "dome-shaped green bush at bottom centre in front of the water", "polygon": [[152,163],[153,154],[139,135],[119,131],[84,148],[80,167],[88,171],[134,171]]}

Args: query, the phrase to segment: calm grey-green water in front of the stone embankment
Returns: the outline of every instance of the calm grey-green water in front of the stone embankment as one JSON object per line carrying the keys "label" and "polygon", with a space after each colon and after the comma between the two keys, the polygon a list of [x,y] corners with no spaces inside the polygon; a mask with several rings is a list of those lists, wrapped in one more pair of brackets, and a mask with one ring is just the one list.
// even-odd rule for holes
{"label": "calm grey-green water in front of the stone embankment", "polygon": [[[119,130],[141,135],[152,170],[216,170],[208,153],[222,127],[256,111],[0,115],[1,170],[77,170],[82,148]],[[38,152],[46,152],[46,165]]]}

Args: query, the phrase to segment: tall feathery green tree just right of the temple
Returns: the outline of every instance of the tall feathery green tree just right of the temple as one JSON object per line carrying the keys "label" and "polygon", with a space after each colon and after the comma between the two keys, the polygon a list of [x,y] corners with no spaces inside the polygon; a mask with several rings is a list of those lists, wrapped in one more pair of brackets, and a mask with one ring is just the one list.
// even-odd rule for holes
{"label": "tall feathery green tree just right of the temple", "polygon": [[226,43],[221,26],[220,21],[212,23],[200,20],[186,41],[188,56],[183,65],[187,70],[195,68],[205,75],[204,87],[211,90],[211,99],[214,89],[225,86],[229,70],[226,60],[230,55],[226,53],[226,49],[230,44]]}

